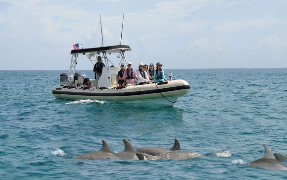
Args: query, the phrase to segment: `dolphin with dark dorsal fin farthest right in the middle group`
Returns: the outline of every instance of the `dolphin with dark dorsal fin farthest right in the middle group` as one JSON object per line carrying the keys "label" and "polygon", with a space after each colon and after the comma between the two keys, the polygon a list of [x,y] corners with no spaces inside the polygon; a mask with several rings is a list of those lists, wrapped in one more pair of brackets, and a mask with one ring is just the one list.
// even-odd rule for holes
{"label": "dolphin with dark dorsal fin farthest right in the middle group", "polygon": [[136,151],[138,153],[145,153],[145,154],[149,154],[152,156],[157,156],[157,155],[160,155],[162,153],[167,153],[169,151],[180,151],[180,150],[181,150],[181,146],[180,146],[180,143],[178,142],[177,139],[174,139],[174,145],[170,149],[166,149],[166,148],[162,148],[162,147],[150,147],[150,146],[141,147],[139,149],[136,149]]}

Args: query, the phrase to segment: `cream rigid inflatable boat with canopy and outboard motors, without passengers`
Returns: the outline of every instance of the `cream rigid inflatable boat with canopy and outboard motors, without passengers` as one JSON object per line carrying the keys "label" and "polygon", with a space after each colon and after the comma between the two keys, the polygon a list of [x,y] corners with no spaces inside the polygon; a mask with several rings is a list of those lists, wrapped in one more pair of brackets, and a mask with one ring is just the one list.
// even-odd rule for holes
{"label": "cream rigid inflatable boat with canopy and outboard motors, without passengers", "polygon": [[[129,46],[116,45],[89,49],[79,49],[71,51],[71,64],[69,73],[60,74],[60,85],[53,88],[52,93],[56,98],[71,100],[104,100],[117,101],[122,103],[148,103],[150,105],[173,106],[179,97],[189,92],[190,86],[187,81],[178,79],[170,81],[158,82],[152,84],[144,84],[127,87],[116,87],[117,73],[120,70],[120,64],[127,66],[124,53],[130,51]],[[115,54],[118,64],[114,64],[108,55]],[[86,55],[93,63],[93,58],[101,56],[104,64],[102,74],[98,79],[95,87],[95,79],[89,79],[92,87],[86,85],[86,75],[84,73],[75,72],[77,59],[79,55]],[[93,63],[94,64],[94,63]],[[138,80],[140,83],[141,79]]]}

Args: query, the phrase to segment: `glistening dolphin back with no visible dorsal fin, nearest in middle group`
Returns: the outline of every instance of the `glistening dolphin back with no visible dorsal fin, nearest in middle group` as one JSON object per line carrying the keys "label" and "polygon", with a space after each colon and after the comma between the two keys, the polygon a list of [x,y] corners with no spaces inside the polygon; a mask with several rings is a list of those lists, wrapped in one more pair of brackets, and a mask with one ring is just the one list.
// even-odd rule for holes
{"label": "glistening dolphin back with no visible dorsal fin, nearest in middle group", "polygon": [[152,156],[145,153],[137,153],[140,160],[156,160],[156,159],[172,159],[172,160],[186,160],[201,156],[194,151],[168,151],[157,156]]}

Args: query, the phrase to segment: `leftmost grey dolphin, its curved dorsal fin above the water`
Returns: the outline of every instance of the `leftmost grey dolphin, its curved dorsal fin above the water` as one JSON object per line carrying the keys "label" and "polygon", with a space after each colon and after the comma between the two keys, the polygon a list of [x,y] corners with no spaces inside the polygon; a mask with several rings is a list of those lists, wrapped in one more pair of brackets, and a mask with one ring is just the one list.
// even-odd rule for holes
{"label": "leftmost grey dolphin, its curved dorsal fin above the water", "polygon": [[102,148],[99,151],[90,152],[75,157],[74,159],[119,159],[116,157],[107,142],[102,140]]}

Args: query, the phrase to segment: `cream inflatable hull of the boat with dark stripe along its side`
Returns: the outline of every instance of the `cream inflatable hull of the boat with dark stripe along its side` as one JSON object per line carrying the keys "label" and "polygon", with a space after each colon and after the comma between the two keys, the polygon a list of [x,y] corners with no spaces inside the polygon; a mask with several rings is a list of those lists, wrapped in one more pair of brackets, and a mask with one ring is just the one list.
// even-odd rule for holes
{"label": "cream inflatable hull of the boat with dark stripe along its side", "polygon": [[122,103],[154,103],[172,106],[179,97],[189,92],[187,81],[179,79],[158,84],[128,86],[125,88],[85,88],[55,86],[52,90],[56,98],[70,100],[103,100]]}

